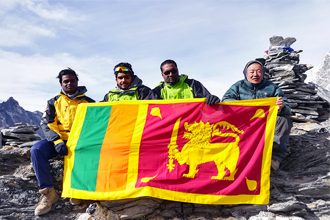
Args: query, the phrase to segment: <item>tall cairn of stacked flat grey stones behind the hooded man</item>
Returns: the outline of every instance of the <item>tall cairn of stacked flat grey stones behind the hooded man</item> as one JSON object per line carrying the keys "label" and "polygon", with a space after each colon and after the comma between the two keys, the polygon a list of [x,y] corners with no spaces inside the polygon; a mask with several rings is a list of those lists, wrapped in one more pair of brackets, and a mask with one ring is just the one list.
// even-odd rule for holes
{"label": "tall cairn of stacked flat grey stones behind the hooded man", "polygon": [[329,103],[317,95],[315,85],[304,83],[305,72],[313,65],[299,64],[299,53],[290,46],[296,39],[273,36],[266,51],[265,76],[278,85],[288,98],[293,121],[323,121]]}

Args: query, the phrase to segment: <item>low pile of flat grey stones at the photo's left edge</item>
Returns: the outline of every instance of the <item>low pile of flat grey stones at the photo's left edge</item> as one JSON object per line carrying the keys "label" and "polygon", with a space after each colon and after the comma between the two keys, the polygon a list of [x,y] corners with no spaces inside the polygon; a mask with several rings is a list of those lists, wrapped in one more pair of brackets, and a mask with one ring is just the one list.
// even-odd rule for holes
{"label": "low pile of flat grey stones at the photo's left edge", "polygon": [[0,128],[0,148],[2,146],[32,147],[41,140],[36,134],[38,129],[39,126],[27,123],[15,123],[15,127]]}

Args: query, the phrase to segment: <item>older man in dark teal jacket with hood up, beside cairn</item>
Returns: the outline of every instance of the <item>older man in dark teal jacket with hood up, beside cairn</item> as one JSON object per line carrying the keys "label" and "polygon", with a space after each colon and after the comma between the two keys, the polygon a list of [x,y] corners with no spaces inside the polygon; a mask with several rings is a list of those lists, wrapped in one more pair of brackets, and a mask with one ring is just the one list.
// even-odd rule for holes
{"label": "older man in dark teal jacket with hood up, beside cairn", "polygon": [[265,70],[260,59],[248,62],[243,70],[243,74],[245,79],[232,85],[222,97],[222,101],[278,97],[275,103],[279,108],[272,155],[272,169],[277,170],[280,162],[290,153],[287,143],[292,127],[290,119],[291,108],[283,91],[277,85],[264,78]]}

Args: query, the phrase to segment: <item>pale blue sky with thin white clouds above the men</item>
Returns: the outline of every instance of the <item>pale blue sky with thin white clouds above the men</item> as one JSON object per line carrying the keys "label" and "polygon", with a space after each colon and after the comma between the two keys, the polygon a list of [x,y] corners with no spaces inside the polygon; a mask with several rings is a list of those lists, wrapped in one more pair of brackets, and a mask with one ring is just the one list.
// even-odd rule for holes
{"label": "pale blue sky with thin white clouds above the men", "polygon": [[154,88],[166,59],[221,98],[274,35],[296,38],[300,64],[320,65],[330,51],[330,1],[1,0],[0,102],[12,96],[44,111],[67,67],[100,101],[120,62]]}

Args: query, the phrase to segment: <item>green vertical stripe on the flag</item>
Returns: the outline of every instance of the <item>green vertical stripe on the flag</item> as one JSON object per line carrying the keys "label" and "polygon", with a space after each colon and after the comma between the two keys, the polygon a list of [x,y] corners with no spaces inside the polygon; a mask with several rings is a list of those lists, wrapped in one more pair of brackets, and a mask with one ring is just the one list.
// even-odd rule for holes
{"label": "green vertical stripe on the flag", "polygon": [[71,188],[94,192],[103,139],[112,106],[88,106],[75,148]]}

